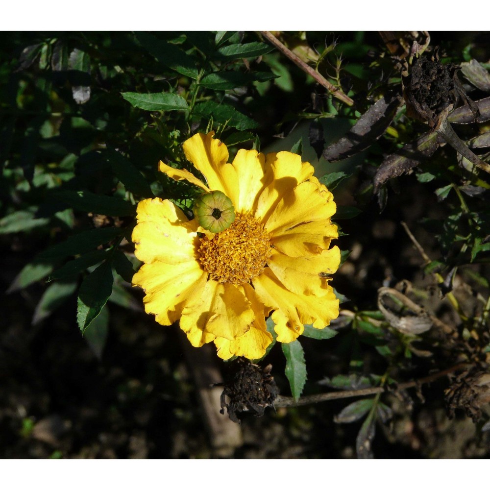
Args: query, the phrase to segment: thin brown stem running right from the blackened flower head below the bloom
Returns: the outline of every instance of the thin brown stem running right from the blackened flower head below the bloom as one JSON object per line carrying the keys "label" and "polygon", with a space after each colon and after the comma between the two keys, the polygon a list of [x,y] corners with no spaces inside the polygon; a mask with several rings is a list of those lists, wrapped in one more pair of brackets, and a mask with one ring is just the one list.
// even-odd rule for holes
{"label": "thin brown stem running right from the blackened flower head below the bloom", "polygon": [[[458,369],[465,368],[467,365],[465,363],[457,364],[452,368],[444,369],[443,371],[436,372],[434,374],[430,374],[429,376],[425,376],[425,378],[418,379],[416,381],[408,381],[407,383],[400,383],[396,386],[394,391],[407,390],[408,388],[415,388],[424,383],[431,383],[438,378],[442,378],[447,374],[450,374]],[[318,395],[310,395],[303,396],[299,400],[294,400],[291,396],[281,396],[279,395],[274,400],[274,407],[299,407],[300,405],[309,405],[310,403],[318,403],[320,401],[328,401],[328,400],[338,400],[340,398],[351,398],[353,396],[368,396],[374,395],[377,393],[383,393],[389,391],[388,388],[385,387],[374,387],[374,388],[365,388],[363,390],[348,390],[342,392],[333,392],[333,393],[319,393]]]}

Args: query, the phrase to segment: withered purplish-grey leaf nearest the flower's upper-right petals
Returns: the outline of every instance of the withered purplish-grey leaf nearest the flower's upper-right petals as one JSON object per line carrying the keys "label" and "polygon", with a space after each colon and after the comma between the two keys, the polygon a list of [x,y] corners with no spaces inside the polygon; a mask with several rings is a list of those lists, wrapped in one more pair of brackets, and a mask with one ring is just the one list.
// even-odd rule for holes
{"label": "withered purplish-grey leaf nearest the flower's upper-right petals", "polygon": [[376,101],[337,143],[323,151],[329,162],[343,160],[370,147],[390,125],[401,103],[399,95],[391,95]]}

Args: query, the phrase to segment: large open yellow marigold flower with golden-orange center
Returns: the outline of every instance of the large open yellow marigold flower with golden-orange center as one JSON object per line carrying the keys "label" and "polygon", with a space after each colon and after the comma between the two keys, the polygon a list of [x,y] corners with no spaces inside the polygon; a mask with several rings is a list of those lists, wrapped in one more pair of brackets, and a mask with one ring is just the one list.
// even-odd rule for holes
{"label": "large open yellow marigold flower with golden-orange center", "polygon": [[305,323],[321,329],[337,318],[339,300],[328,283],[340,263],[339,248],[329,248],[338,237],[330,221],[336,205],[313,167],[289,151],[241,149],[227,163],[214,132],[196,134],[183,148],[206,183],[163,162],[159,170],[203,193],[221,191],[235,219],[213,233],[168,199],[140,201],[132,240],[144,264],[133,285],[145,290],[145,311],[162,325],[180,320],[192,345],[214,342],[222,359],[261,358],[272,342],[271,312],[284,343]]}

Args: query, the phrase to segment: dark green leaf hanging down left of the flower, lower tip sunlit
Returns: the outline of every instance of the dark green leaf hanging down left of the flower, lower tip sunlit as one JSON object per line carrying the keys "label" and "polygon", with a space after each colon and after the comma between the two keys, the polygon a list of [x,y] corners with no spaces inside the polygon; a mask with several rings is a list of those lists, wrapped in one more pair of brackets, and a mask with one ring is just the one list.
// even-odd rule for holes
{"label": "dark green leaf hanging down left of the flower, lower tip sunlit", "polygon": [[104,262],[82,282],[78,291],[76,321],[82,332],[98,317],[112,293],[112,269],[109,261]]}

